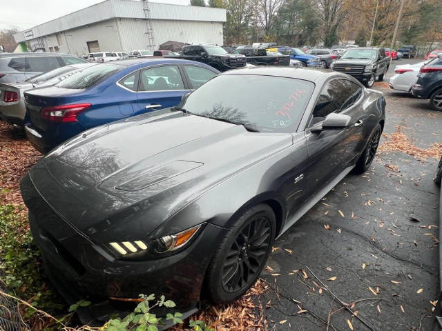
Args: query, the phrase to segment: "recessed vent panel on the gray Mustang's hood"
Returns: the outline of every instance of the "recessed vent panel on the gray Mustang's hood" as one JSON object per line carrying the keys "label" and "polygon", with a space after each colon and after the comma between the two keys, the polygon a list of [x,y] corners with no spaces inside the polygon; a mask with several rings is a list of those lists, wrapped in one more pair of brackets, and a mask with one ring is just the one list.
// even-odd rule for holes
{"label": "recessed vent panel on the gray Mustang's hood", "polygon": [[116,186],[117,190],[123,191],[138,191],[144,188],[148,188],[151,185],[161,183],[166,179],[171,179],[172,177],[183,174],[195,168],[200,167],[204,163],[193,162],[193,161],[182,161],[177,160],[166,165],[162,165],[160,168],[154,168],[139,174],[137,177],[125,181]]}

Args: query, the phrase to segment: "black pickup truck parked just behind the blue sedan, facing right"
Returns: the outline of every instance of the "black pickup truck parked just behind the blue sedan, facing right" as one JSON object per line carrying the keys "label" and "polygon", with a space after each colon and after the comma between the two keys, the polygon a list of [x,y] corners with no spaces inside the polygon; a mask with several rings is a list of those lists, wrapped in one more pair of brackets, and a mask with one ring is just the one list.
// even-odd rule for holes
{"label": "black pickup truck parked just behind the blue sedan, facing right", "polygon": [[213,45],[183,46],[181,58],[206,63],[220,71],[246,66],[246,57],[244,55],[229,54],[224,48]]}

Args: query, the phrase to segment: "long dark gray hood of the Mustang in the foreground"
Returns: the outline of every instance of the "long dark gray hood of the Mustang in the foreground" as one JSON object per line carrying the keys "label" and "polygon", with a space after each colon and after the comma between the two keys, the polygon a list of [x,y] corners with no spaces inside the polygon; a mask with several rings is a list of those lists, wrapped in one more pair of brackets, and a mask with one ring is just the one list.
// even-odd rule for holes
{"label": "long dark gray hood of the Mustang in the foreground", "polygon": [[100,232],[95,241],[111,240],[106,231],[122,225],[144,237],[206,190],[292,144],[291,134],[161,112],[59,146],[30,170],[35,188],[80,232]]}

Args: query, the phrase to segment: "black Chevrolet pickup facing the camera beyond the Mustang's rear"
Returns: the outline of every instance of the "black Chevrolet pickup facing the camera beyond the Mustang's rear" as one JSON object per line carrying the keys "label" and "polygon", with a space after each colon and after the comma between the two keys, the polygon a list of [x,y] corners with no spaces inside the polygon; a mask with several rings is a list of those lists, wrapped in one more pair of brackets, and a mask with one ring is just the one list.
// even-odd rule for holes
{"label": "black Chevrolet pickup facing the camera beyond the Mustang's rear", "polygon": [[334,71],[344,72],[371,88],[376,80],[383,81],[390,67],[390,57],[385,57],[384,48],[349,48],[330,65]]}

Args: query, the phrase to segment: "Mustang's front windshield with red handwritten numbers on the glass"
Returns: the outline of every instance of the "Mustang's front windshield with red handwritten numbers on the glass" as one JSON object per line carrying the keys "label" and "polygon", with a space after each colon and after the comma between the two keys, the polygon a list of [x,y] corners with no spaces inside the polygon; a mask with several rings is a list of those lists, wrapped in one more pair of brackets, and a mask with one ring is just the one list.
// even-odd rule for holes
{"label": "Mustang's front windshield with red handwritten numbers on the glass", "polygon": [[182,108],[249,131],[295,132],[313,90],[301,79],[224,74],[191,93]]}

